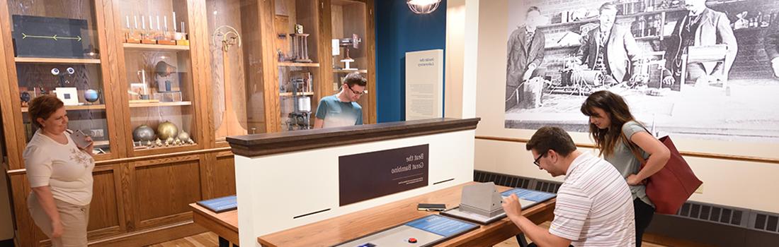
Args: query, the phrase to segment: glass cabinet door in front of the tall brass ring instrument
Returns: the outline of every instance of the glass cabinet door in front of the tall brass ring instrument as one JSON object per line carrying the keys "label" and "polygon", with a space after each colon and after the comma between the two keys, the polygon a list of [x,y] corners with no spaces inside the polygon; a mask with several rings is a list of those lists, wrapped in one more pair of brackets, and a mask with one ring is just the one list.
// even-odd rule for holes
{"label": "glass cabinet door in front of the tall brass ring instrument", "polygon": [[257,28],[257,0],[206,0],[208,13],[213,130],[225,137],[266,132]]}

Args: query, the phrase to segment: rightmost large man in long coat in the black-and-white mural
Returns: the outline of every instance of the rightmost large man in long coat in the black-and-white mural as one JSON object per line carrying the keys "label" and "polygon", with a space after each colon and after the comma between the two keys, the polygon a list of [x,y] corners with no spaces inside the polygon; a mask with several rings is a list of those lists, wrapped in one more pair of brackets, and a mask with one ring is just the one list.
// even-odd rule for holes
{"label": "rightmost large man in long coat in the black-and-white mural", "polygon": [[[687,82],[691,83],[728,80],[728,72],[738,52],[728,16],[707,8],[706,0],[686,0],[685,9],[687,15],[676,23],[671,37],[665,41],[667,49],[663,83],[670,85],[681,82],[682,76],[686,76]],[[724,64],[717,62],[682,64],[682,55],[687,53],[689,47],[720,43],[728,46]],[[682,75],[682,66],[687,66],[687,75]]]}

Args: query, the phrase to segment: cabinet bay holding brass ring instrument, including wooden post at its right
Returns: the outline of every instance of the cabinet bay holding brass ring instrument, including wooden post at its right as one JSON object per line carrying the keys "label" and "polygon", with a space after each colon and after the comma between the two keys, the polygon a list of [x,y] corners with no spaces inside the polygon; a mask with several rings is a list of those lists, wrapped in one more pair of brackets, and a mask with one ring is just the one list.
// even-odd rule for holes
{"label": "cabinet bay holding brass ring instrument, including wooden post at its right", "polygon": [[206,0],[206,12],[217,146],[227,147],[227,136],[280,130],[273,2]]}

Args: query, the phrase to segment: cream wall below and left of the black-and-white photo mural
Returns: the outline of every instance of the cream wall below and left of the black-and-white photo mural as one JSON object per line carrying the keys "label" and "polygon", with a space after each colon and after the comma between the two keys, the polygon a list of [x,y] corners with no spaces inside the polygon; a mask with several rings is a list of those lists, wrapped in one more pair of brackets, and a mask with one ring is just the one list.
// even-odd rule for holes
{"label": "cream wall below and left of the black-and-white photo mural", "polygon": [[[471,1],[471,0],[468,0]],[[515,130],[504,127],[504,90],[506,83],[506,41],[508,40],[509,0],[478,1],[478,32],[449,33],[447,27],[447,46],[463,37],[478,37],[478,46],[465,46],[465,54],[478,54],[476,117],[481,122],[476,130],[477,136],[530,138],[534,130]],[[517,1],[517,0],[510,0]],[[449,0],[451,5],[453,2]],[[468,7],[468,6],[466,6]],[[447,26],[460,22],[463,15],[449,13],[468,12],[460,5],[448,6]],[[450,41],[452,39],[453,41]],[[457,49],[447,47],[446,64],[457,63],[449,59],[459,59],[451,54]],[[466,68],[467,69],[467,68]],[[447,69],[449,73],[449,69]],[[456,71],[451,71],[456,73]],[[456,77],[447,74],[449,84],[456,84]],[[447,108],[449,105],[446,106]],[[582,116],[582,120],[587,119]],[[574,141],[591,144],[585,133],[571,133]],[[779,144],[731,143],[724,141],[701,141],[695,139],[674,139],[680,151],[697,151],[724,155],[747,155],[763,158],[779,158]],[[538,171],[532,164],[533,158],[525,151],[523,143],[504,141],[476,141],[475,169],[527,176],[538,179],[552,179],[546,172]],[[693,194],[691,200],[733,207],[745,207],[755,210],[779,213],[779,186],[772,183],[779,176],[779,165],[761,162],[740,162],[721,158],[686,157],[687,162],[703,180],[703,193]]]}

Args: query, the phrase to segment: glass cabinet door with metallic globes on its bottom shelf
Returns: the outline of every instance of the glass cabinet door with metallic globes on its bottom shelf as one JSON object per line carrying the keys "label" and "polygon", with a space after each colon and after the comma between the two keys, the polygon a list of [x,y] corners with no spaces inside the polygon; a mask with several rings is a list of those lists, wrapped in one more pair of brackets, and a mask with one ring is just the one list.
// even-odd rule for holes
{"label": "glass cabinet door with metallic globes on its bottom shelf", "polygon": [[[188,2],[121,1],[133,151],[196,146]],[[154,151],[155,153],[157,151]],[[165,151],[164,151],[165,152]]]}

